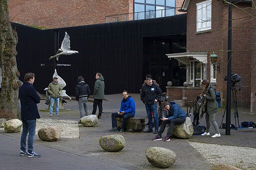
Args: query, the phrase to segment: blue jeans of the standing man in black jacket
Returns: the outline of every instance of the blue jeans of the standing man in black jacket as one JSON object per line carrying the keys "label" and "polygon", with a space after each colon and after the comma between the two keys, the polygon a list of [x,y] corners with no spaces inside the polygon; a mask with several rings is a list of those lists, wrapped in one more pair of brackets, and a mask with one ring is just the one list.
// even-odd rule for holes
{"label": "blue jeans of the standing man in black jacket", "polygon": [[153,118],[154,118],[154,130],[158,130],[158,117],[157,117],[157,106],[156,103],[153,103],[151,105],[145,104],[146,108],[146,114],[148,118],[148,129],[152,130],[153,129],[153,119],[151,112],[153,113]]}

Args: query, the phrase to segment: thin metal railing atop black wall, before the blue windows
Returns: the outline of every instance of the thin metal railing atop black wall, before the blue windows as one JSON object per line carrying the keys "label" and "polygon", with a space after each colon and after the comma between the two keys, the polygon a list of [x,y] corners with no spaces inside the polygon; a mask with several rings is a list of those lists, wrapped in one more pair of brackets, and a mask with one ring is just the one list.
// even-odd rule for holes
{"label": "thin metal railing atop black wall, before the blue windows", "polygon": [[175,15],[176,8],[177,7],[158,9],[158,10],[147,10],[147,11],[134,12],[134,13],[131,12],[131,13],[116,14],[116,15],[106,15],[105,23],[172,16],[172,15]]}

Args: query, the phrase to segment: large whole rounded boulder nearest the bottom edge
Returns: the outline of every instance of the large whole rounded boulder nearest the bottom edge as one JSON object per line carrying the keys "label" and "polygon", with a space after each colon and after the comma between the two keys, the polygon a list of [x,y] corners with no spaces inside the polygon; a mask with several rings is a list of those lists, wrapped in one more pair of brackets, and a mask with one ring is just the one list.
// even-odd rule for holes
{"label": "large whole rounded boulder nearest the bottom edge", "polygon": [[168,168],[176,161],[176,154],[166,148],[150,147],[145,155],[147,161],[158,168]]}

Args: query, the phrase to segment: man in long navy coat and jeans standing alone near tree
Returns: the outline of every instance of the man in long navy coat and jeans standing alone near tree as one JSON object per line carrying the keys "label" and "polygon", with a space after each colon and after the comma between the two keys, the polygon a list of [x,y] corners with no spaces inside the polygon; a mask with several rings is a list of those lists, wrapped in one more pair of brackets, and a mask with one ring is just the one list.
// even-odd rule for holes
{"label": "man in long navy coat and jeans standing alone near tree", "polygon": [[[36,119],[40,118],[37,109],[37,103],[40,103],[40,97],[32,86],[34,82],[34,73],[26,73],[23,85],[18,90],[21,105],[22,134],[20,138],[20,156],[40,157],[33,151],[33,141],[35,134]],[[27,152],[26,152],[26,136]]]}

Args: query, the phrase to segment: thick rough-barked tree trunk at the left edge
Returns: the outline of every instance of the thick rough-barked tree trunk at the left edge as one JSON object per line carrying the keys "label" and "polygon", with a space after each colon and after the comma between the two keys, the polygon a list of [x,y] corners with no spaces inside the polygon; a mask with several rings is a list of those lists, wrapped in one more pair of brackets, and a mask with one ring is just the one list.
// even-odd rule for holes
{"label": "thick rough-barked tree trunk at the left edge", "polygon": [[18,113],[21,82],[18,80],[16,44],[17,34],[10,25],[8,0],[0,0],[0,118],[6,117],[6,114],[13,118]]}

